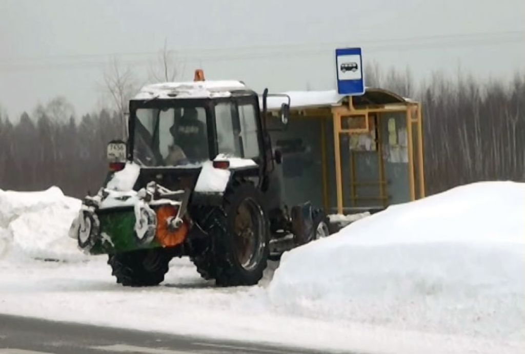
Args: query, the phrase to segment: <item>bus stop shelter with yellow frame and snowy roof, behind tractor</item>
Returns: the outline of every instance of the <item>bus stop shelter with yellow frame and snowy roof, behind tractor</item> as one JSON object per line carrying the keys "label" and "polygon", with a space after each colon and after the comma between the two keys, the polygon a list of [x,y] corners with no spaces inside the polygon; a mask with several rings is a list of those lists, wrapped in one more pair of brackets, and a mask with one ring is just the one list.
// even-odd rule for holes
{"label": "bus stop shelter with yellow frame and snowy roof, behind tractor", "polygon": [[425,196],[421,103],[366,88],[290,91],[290,120],[278,126],[284,100],[269,97],[270,134],[280,149],[284,199],[311,200],[327,213],[374,211]]}

